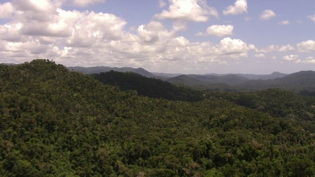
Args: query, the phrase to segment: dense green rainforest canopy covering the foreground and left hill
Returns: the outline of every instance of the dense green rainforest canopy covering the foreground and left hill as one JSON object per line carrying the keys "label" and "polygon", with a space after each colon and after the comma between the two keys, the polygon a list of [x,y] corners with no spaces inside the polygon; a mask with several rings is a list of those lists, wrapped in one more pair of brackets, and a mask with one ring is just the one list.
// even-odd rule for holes
{"label": "dense green rainforest canopy covering the foreground and left hill", "polygon": [[146,79],[135,91],[104,77],[0,64],[0,176],[315,176],[315,97]]}

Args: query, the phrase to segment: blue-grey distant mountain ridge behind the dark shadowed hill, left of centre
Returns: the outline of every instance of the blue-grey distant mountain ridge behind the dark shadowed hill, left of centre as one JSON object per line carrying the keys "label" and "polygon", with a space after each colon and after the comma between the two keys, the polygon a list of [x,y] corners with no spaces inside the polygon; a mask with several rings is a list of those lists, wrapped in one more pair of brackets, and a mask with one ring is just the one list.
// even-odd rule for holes
{"label": "blue-grey distant mountain ridge behind the dark shadowed hill, left of centre", "polygon": [[108,66],[94,66],[94,67],[81,67],[81,66],[75,66],[75,67],[67,67],[69,70],[73,71],[79,71],[85,74],[95,74],[95,73],[101,73],[101,72],[108,72],[108,71],[118,71],[118,72],[134,72],[137,74],[141,74],[142,76],[146,77],[158,77],[157,75],[154,75],[150,73],[149,71],[143,69],[143,68],[132,68],[132,67],[108,67]]}

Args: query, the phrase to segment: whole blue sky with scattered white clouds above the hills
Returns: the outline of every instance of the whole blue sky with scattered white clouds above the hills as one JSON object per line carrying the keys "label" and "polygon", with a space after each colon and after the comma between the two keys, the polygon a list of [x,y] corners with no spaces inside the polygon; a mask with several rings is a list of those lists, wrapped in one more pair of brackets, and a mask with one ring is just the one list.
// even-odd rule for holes
{"label": "whole blue sky with scattered white clouds above the hills", "polygon": [[0,0],[0,63],[315,70],[315,0]]}

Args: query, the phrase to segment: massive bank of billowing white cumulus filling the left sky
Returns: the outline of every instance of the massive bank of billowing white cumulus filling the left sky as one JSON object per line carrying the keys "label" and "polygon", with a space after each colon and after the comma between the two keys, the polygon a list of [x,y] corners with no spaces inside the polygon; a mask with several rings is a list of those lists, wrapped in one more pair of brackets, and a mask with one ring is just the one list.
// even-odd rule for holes
{"label": "massive bank of billowing white cumulus filling the left sky", "polygon": [[[175,21],[171,28],[153,20],[128,31],[127,22],[114,14],[64,10],[49,0],[33,2],[12,2],[17,9],[12,13],[14,20],[0,25],[1,62],[48,58],[67,66],[127,65],[172,72],[186,66],[202,69],[228,64],[248,57],[248,52],[255,49],[252,44],[229,37],[218,43],[189,41],[179,35],[187,29],[184,20]],[[200,7],[205,7],[201,2],[205,1],[198,1]],[[232,33],[229,26],[221,28],[214,34]],[[210,29],[209,34],[215,31]]]}

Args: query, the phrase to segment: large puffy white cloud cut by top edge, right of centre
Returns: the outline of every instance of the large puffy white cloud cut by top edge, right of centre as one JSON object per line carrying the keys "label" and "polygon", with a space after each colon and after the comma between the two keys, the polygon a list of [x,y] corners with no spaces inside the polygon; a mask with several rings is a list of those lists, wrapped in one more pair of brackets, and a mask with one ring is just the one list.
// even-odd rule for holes
{"label": "large puffy white cloud cut by top edge, right of centre", "polygon": [[163,10],[154,17],[157,19],[206,22],[209,16],[219,17],[218,11],[209,7],[205,0],[169,0],[168,10]]}

